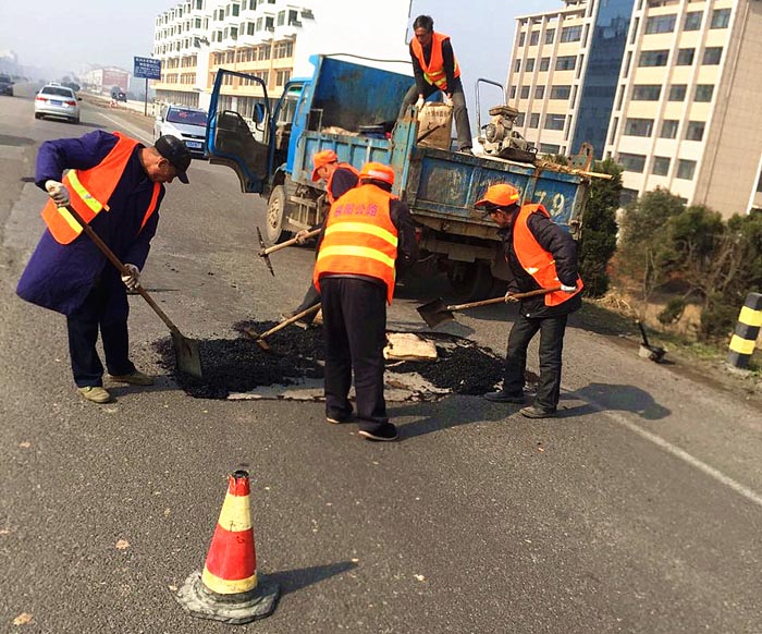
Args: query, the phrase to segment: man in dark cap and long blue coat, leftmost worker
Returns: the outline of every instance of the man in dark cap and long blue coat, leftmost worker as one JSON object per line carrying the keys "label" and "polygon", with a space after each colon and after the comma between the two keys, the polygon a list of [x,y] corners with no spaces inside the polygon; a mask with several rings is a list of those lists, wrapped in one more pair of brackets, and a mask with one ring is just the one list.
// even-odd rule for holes
{"label": "man in dark cap and long blue coat, leftmost worker", "polygon": [[[46,231],[22,273],[23,300],[66,316],[74,382],[82,397],[108,403],[98,332],[111,378],[137,386],[153,382],[130,361],[126,291],[139,285],[159,222],[163,183],[187,183],[190,155],[174,136],[152,147],[120,133],[95,131],[81,138],[45,142],[35,183],[50,197]],[[69,170],[64,175],[64,171]],[[116,270],[66,211],[71,206],[130,270]]]}

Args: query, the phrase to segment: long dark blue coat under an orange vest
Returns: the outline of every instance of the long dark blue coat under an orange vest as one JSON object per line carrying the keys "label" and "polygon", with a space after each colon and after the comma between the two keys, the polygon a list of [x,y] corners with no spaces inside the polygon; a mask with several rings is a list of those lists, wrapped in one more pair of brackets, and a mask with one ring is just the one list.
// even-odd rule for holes
{"label": "long dark blue coat under an orange vest", "polygon": [[[116,145],[113,134],[97,130],[81,138],[46,141],[37,154],[35,182],[45,190],[48,180],[61,181],[66,169],[87,170],[98,166]],[[90,222],[93,230],[123,264],[139,269],[146,264],[150,242],[159,222],[159,206],[164,197],[161,185],[157,210],[140,231],[150,204],[153,183],[138,158],[138,145],[109,199],[109,211]],[[71,315],[84,302],[96,283],[125,292],[119,271],[83,232],[71,244],[59,244],[46,229],[16,286],[23,300]]]}

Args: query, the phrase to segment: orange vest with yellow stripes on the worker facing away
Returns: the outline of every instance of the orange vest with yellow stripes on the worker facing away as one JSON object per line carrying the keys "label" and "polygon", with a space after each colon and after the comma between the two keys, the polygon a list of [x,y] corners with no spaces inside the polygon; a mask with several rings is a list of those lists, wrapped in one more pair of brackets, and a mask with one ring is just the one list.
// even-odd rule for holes
{"label": "orange vest with yellow stripes on the worker facing away", "polygon": [[393,197],[367,184],[331,205],[312,273],[318,291],[325,273],[368,276],[386,284],[386,301],[392,303],[397,258],[397,228],[389,210]]}

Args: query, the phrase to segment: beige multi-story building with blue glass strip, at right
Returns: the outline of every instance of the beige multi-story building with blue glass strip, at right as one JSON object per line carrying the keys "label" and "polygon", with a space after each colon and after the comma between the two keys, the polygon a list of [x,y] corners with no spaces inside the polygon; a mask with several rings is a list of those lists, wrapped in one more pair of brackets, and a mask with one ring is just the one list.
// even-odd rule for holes
{"label": "beige multi-story building with blue glass strip, at right", "polygon": [[518,26],[508,96],[540,153],[589,141],[624,167],[628,197],[661,186],[726,217],[762,208],[761,0],[567,1]]}

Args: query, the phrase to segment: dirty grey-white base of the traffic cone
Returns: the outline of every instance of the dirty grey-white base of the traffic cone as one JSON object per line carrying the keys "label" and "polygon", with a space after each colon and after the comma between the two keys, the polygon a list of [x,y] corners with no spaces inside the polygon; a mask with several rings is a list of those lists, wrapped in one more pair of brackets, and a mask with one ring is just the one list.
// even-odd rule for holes
{"label": "dirty grey-white base of the traffic cone", "polygon": [[196,571],[190,573],[174,597],[194,617],[239,625],[272,614],[279,594],[278,584],[260,578],[250,593],[216,595],[206,589],[201,583],[201,573]]}

